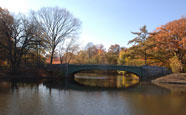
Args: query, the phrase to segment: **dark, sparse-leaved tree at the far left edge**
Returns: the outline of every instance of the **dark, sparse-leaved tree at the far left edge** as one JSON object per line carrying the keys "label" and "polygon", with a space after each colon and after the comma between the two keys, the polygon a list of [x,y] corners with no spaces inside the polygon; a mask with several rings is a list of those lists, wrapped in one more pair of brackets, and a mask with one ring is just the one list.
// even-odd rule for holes
{"label": "dark, sparse-leaved tree at the far left edge", "polygon": [[25,15],[12,16],[7,10],[0,9],[0,46],[7,51],[13,71],[29,51],[36,30],[37,26]]}

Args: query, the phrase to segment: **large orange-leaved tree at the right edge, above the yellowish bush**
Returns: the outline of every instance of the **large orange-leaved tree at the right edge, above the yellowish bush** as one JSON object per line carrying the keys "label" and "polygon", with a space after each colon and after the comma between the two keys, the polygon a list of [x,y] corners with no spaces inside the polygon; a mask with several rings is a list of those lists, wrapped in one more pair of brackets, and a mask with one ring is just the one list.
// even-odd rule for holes
{"label": "large orange-leaved tree at the right edge, above the yellowish bush", "polygon": [[[174,56],[181,64],[186,64],[186,18],[171,21],[158,27],[151,36],[156,53],[164,53],[168,60]],[[162,57],[163,58],[163,57]],[[167,61],[167,63],[169,63]]]}

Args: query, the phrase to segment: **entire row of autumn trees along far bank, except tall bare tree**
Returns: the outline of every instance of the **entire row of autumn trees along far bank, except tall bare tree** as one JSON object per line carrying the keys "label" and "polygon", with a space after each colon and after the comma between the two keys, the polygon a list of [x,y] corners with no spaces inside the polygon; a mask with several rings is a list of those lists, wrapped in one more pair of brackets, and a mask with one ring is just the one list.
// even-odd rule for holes
{"label": "entire row of autumn trees along far bank, except tall bare tree", "polygon": [[[47,12],[44,13],[47,14]],[[47,55],[51,57],[52,50],[52,55],[56,59],[59,57],[61,64],[152,65],[165,66],[176,73],[186,71],[186,17],[168,22],[152,32],[149,32],[144,25],[139,32],[132,32],[136,37],[129,41],[129,44],[132,44],[131,47],[114,44],[108,49],[101,44],[89,44],[86,48],[79,49],[77,44],[74,45],[73,40],[69,42],[66,50],[64,45],[57,48],[55,42],[46,40],[51,36],[46,37],[45,34],[48,32],[43,31],[47,29],[40,27],[37,21],[33,17],[28,18],[24,15],[15,17],[8,10],[0,8],[0,64],[3,61],[12,66],[33,63],[33,59],[40,60],[40,57],[47,57]],[[78,30],[79,21],[76,19],[73,21],[76,22],[75,30]],[[54,33],[51,31],[50,34]],[[68,35],[68,39],[75,37],[73,35]],[[64,44],[61,41],[65,39],[62,38],[57,43]],[[49,47],[49,42],[54,43],[53,49]],[[46,50],[49,54],[46,54]]]}

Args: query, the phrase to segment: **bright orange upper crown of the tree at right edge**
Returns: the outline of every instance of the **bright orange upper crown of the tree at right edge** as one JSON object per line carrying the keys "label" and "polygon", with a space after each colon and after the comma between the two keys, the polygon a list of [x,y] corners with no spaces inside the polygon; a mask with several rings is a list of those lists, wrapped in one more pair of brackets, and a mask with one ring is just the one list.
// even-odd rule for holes
{"label": "bright orange upper crown of the tree at right edge", "polygon": [[[181,18],[156,29],[153,37],[158,43],[167,43],[169,50],[186,47],[186,18]],[[161,45],[160,45],[161,46]]]}

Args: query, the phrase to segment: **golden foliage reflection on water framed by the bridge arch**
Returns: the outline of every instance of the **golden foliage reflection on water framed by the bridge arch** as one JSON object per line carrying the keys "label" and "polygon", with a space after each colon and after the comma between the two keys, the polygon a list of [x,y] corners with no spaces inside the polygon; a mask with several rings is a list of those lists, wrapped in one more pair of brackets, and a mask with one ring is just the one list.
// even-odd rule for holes
{"label": "golden foliage reflection on water framed by the bridge arch", "polygon": [[101,87],[101,88],[128,88],[136,85],[139,82],[137,76],[108,76],[108,75],[97,75],[97,74],[77,74],[75,76],[75,81],[91,87]]}

